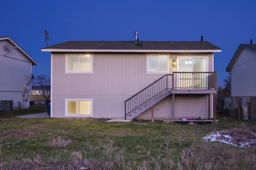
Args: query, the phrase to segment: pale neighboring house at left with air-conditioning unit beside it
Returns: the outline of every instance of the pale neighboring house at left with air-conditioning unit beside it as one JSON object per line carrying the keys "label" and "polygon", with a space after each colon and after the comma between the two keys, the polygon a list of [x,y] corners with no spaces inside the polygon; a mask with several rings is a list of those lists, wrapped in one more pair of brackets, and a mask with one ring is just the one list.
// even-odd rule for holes
{"label": "pale neighboring house at left with air-conditioning unit beside it", "polygon": [[[29,107],[32,66],[38,63],[10,37],[0,37],[0,100],[3,110]],[[11,108],[12,107],[12,108]]]}

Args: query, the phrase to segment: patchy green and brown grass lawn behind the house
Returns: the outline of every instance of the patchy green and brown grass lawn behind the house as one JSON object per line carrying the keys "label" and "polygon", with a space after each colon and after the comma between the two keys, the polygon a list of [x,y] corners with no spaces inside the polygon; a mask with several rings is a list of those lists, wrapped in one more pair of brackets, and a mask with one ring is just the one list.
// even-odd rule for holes
{"label": "patchy green and brown grass lawn behind the house", "polygon": [[[2,118],[1,169],[254,169],[254,147],[206,142],[207,134],[255,125],[217,115],[218,124],[107,119]],[[255,135],[254,135],[255,136]]]}

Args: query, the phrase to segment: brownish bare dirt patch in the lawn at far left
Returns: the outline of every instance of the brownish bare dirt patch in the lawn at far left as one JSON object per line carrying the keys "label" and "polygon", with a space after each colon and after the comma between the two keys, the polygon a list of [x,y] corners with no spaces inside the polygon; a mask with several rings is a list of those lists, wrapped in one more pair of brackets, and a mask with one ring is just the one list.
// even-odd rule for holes
{"label": "brownish bare dirt patch in the lawn at far left", "polygon": [[27,129],[12,129],[12,130],[8,130],[2,134],[0,134],[0,138],[2,139],[6,139],[6,138],[10,138],[10,137],[30,137],[30,138],[35,138],[37,137],[39,134],[31,131],[31,130],[27,130]]}

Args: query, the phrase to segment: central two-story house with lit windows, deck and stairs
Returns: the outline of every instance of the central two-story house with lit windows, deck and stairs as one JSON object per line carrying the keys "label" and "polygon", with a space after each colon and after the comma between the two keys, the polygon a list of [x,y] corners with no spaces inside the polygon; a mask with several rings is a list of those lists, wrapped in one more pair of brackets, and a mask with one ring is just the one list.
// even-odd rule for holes
{"label": "central two-story house with lit windows, deck and stairs", "polygon": [[[208,41],[68,41],[51,52],[51,117],[178,119],[214,116]],[[175,99],[174,99],[175,98]]]}

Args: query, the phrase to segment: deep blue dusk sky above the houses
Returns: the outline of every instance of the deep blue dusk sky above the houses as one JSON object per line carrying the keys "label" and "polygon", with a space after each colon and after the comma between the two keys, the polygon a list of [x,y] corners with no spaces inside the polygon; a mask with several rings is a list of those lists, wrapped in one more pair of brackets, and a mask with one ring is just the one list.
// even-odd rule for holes
{"label": "deep blue dusk sky above the houses", "polygon": [[66,41],[209,41],[218,85],[241,43],[256,42],[256,1],[246,0],[4,0],[0,36],[8,36],[39,65],[34,76],[50,76],[48,45]]}

